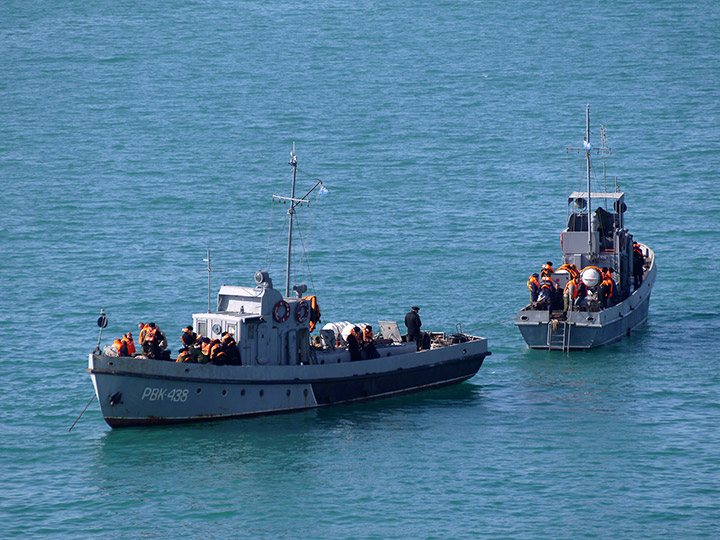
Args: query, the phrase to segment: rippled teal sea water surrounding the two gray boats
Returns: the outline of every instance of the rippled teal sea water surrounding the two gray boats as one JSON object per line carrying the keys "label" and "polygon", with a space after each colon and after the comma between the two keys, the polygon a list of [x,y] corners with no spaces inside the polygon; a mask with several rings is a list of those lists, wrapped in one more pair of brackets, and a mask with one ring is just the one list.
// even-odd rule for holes
{"label": "rippled teal sea water surrounding the two gray boats", "polygon": [[[716,1],[3,2],[0,537],[717,538],[718,88]],[[650,316],[531,351],[495,323],[560,260],[588,103]],[[323,320],[417,304],[489,338],[478,375],[170,428],[93,402],[69,432],[101,308],[103,344],[154,320],[177,348],[207,249],[213,296],[282,285],[293,142],[329,190],[295,264]]]}

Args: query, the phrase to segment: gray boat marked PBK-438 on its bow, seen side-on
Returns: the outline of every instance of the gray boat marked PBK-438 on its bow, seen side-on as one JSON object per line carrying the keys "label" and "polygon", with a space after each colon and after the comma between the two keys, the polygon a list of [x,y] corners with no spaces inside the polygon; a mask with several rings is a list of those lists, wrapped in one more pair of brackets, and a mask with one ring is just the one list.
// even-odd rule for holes
{"label": "gray boat marked PBK-438 on its bow, seen side-on", "polygon": [[[163,361],[143,356],[113,356],[98,347],[90,354],[88,372],[100,409],[111,427],[186,423],[300,411],[394,396],[465,381],[490,354],[487,340],[463,333],[427,335],[425,347],[401,336],[397,323],[381,322],[383,339],[374,341],[372,358],[351,361],[342,337],[321,331],[310,343],[312,309],[302,297],[306,287],[290,289],[292,219],[296,208],[309,204],[292,193],[277,197],[290,203],[285,294],[273,287],[268,272],[255,274],[252,287],[220,288],[217,309],[193,314],[193,327],[203,336],[228,332],[237,342],[242,365]],[[209,256],[208,256],[209,269]],[[427,343],[429,342],[429,343]],[[429,344],[429,346],[427,346]]]}

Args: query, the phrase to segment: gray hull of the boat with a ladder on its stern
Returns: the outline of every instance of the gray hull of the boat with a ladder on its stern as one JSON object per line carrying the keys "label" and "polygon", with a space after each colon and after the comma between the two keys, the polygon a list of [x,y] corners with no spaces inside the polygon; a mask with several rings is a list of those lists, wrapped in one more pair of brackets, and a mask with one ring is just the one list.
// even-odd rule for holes
{"label": "gray hull of the boat with a ladder on its stern", "polygon": [[553,321],[548,311],[525,308],[515,325],[532,349],[585,350],[614,343],[647,320],[655,276],[653,258],[642,285],[615,306],[599,312],[570,311],[564,321]]}

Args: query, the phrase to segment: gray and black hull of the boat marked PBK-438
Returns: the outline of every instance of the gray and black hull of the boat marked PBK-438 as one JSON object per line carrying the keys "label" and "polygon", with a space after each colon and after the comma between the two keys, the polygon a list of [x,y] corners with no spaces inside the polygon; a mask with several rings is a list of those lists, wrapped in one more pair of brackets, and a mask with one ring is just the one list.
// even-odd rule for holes
{"label": "gray and black hull of the boat marked PBK-438", "polygon": [[375,360],[215,366],[90,355],[105,421],[129,427],[300,411],[455,384],[477,373],[486,340]]}

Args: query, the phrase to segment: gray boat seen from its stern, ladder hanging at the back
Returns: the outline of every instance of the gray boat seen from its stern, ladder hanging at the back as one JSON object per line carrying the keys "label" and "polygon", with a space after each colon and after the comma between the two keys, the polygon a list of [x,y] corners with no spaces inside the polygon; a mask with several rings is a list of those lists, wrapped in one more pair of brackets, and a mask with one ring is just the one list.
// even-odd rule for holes
{"label": "gray boat seen from its stern, ladder hanging at the back", "polygon": [[[522,308],[515,321],[528,346],[533,349],[568,351],[590,349],[613,343],[629,335],[645,322],[650,307],[650,294],[657,267],[655,253],[649,246],[633,241],[625,227],[625,193],[613,180],[614,190],[607,189],[605,172],[606,146],[604,128],[602,142],[593,149],[590,142],[590,106],[586,109],[583,146],[568,148],[584,158],[587,188],[569,194],[567,227],[561,234],[563,265],[550,278],[555,293],[550,302],[533,302]],[[591,154],[602,157],[603,190],[592,191]],[[597,208],[593,211],[593,205]],[[637,253],[634,256],[634,250]],[[639,254],[642,254],[640,257]],[[640,261],[640,262],[639,262]],[[612,269],[615,298],[603,302],[600,289],[602,269]],[[587,295],[565,302],[568,281],[579,273]],[[637,283],[636,281],[640,281]],[[567,305],[567,311],[565,306]]]}

